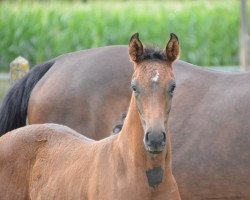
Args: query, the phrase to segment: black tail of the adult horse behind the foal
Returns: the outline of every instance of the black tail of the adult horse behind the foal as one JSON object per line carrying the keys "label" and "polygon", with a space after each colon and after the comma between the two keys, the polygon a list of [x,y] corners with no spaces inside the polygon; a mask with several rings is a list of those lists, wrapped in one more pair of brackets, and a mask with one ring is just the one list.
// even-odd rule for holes
{"label": "black tail of the adult horse behind the foal", "polygon": [[31,91],[54,62],[53,60],[37,65],[8,91],[0,107],[0,136],[26,125]]}

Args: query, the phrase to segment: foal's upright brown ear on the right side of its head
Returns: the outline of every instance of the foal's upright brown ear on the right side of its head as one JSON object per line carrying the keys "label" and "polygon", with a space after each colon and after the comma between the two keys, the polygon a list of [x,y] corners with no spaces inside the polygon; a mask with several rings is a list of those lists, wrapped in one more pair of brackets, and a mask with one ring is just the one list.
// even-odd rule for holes
{"label": "foal's upright brown ear on the right side of its head", "polygon": [[180,47],[178,37],[174,34],[170,34],[170,39],[167,46],[163,50],[164,54],[167,56],[168,61],[173,62],[179,57]]}

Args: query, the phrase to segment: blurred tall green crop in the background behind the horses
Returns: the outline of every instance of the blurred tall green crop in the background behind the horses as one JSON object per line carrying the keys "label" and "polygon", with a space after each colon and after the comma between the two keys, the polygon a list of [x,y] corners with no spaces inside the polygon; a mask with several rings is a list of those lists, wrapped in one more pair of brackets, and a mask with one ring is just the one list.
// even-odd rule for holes
{"label": "blurred tall green crop in the background behind the horses", "polygon": [[237,0],[3,1],[0,66],[7,69],[19,55],[33,65],[66,52],[128,44],[134,32],[162,48],[176,33],[181,59],[192,64],[238,65],[239,28]]}

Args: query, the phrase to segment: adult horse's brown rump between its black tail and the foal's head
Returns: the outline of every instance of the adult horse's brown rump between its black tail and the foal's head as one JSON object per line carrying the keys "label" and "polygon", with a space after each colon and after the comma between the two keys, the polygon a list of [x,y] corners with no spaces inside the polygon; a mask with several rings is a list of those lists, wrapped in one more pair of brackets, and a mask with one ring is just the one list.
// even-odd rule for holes
{"label": "adult horse's brown rump between its black tail and the foal's head", "polygon": [[127,111],[131,75],[126,46],[59,57],[32,91],[28,121],[65,124],[96,140],[107,137]]}

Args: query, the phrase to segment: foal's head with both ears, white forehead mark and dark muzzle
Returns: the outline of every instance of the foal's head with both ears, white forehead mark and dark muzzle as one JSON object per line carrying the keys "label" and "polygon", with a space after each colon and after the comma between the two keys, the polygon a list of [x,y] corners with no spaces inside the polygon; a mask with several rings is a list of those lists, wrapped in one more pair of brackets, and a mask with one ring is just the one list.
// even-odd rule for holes
{"label": "foal's head with both ears, white forehead mark and dark muzzle", "polygon": [[134,62],[131,89],[144,130],[144,145],[148,152],[161,153],[167,145],[167,121],[175,89],[172,63],[179,55],[179,42],[170,34],[163,51],[144,48],[139,34],[131,37],[129,56]]}

